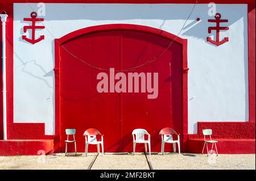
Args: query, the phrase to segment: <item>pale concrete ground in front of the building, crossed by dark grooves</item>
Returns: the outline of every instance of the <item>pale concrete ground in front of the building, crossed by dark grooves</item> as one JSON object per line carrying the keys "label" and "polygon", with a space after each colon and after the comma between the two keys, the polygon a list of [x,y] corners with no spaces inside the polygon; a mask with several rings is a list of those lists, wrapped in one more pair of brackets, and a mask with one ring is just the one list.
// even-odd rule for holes
{"label": "pale concrete ground in front of the building, crossed by dark grooves", "polygon": [[255,154],[70,153],[0,157],[0,169],[254,169]]}

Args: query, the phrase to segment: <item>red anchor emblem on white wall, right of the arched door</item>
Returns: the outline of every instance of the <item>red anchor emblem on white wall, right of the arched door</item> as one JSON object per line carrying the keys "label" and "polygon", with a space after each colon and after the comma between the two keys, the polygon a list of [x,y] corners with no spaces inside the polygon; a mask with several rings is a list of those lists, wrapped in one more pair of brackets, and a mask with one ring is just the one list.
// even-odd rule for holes
{"label": "red anchor emblem on white wall, right of the arched door", "polygon": [[224,40],[220,41],[220,30],[229,30],[229,27],[220,27],[220,23],[228,22],[228,19],[221,19],[221,14],[216,13],[214,16],[215,19],[208,19],[210,23],[216,23],[216,27],[208,27],[208,33],[211,33],[212,30],[216,30],[216,41],[212,40],[210,37],[207,37],[207,41],[214,45],[221,45],[229,41],[229,37],[225,37]]}

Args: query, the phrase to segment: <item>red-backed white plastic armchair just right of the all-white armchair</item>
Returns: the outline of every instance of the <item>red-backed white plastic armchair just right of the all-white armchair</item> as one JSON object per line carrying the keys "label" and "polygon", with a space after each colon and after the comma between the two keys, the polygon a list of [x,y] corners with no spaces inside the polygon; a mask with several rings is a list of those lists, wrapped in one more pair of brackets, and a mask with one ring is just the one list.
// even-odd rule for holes
{"label": "red-backed white plastic armchair just right of the all-white armchair", "polygon": [[[159,134],[162,137],[162,146],[161,146],[162,154],[164,154],[164,144],[165,143],[173,144],[174,153],[176,152],[176,144],[177,144],[178,149],[179,149],[179,154],[180,154],[180,134],[176,133],[176,131],[174,131],[174,129],[171,129],[171,128],[163,128]],[[177,140],[173,139],[173,137],[172,137],[173,134],[177,135]]]}

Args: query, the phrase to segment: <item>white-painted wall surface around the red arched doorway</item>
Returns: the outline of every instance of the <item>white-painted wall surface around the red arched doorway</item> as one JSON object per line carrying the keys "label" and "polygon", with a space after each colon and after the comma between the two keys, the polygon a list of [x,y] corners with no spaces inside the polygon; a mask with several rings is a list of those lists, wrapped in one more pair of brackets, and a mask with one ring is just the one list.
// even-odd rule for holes
{"label": "white-painted wall surface around the red arched doorway", "polygon": [[[14,3],[14,123],[46,123],[46,134],[55,134],[54,39],[81,28],[128,23],[160,28],[177,35],[193,4],[56,4],[46,3],[44,30],[37,44],[22,40],[23,18],[38,11],[37,3]],[[247,5],[217,5],[229,31],[215,47],[206,41],[207,4],[196,5],[180,33],[188,39],[188,133],[196,133],[197,121],[247,121]],[[196,21],[200,18],[200,22]],[[42,23],[38,23],[42,25]],[[214,35],[215,31],[211,35]],[[31,35],[29,35],[31,36]]]}

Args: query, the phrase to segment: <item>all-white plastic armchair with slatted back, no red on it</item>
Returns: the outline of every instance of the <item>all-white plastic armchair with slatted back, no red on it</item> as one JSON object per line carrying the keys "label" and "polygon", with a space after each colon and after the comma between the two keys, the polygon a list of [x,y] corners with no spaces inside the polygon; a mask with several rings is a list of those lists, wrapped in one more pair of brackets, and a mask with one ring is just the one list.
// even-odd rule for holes
{"label": "all-white plastic armchair with slatted back, no red on it", "polygon": [[[151,155],[150,134],[146,131],[146,129],[134,129],[132,134],[133,134],[133,155],[135,153],[136,144],[144,144],[146,153],[147,153],[147,144],[148,144],[149,154]],[[148,136],[147,140],[145,140],[145,137],[144,137],[145,134],[147,134]]]}

